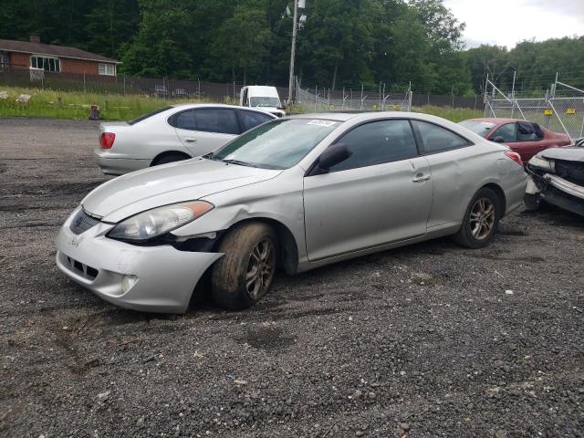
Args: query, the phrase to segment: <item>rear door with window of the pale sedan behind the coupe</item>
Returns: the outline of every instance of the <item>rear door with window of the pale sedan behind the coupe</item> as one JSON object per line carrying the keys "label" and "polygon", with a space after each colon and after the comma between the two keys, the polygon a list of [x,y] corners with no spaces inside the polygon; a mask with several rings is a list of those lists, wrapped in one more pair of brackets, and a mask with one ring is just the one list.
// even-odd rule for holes
{"label": "rear door with window of the pale sedan behind the coupe", "polygon": [[173,116],[171,124],[193,156],[214,151],[241,133],[235,110],[226,108],[184,110]]}

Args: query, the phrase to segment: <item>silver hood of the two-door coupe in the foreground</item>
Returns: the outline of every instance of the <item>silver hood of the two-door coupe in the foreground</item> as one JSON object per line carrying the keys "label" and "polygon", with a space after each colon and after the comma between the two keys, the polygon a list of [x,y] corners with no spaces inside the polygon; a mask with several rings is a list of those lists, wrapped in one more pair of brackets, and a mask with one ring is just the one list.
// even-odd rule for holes
{"label": "silver hood of the two-door coupe in the foreground", "polygon": [[194,158],[119,176],[101,184],[81,203],[88,214],[117,223],[151,208],[266,181],[280,172]]}

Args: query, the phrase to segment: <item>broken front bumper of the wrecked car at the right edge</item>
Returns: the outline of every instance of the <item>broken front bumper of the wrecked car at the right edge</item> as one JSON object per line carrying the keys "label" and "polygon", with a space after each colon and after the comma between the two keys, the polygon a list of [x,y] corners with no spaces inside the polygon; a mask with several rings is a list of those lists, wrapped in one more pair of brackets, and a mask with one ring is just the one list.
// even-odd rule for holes
{"label": "broken front bumper of the wrecked car at the right edge", "polygon": [[528,167],[526,194],[584,216],[584,187],[558,175]]}

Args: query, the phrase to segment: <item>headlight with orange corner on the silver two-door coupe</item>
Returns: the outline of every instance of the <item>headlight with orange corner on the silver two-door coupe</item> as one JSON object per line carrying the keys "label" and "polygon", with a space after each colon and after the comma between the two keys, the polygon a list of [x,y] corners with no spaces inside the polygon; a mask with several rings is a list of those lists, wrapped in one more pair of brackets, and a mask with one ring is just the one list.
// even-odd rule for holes
{"label": "headlight with orange corner on the silver two-door coupe", "polygon": [[113,227],[108,237],[142,242],[188,224],[213,209],[213,203],[204,201],[165,205],[124,219]]}

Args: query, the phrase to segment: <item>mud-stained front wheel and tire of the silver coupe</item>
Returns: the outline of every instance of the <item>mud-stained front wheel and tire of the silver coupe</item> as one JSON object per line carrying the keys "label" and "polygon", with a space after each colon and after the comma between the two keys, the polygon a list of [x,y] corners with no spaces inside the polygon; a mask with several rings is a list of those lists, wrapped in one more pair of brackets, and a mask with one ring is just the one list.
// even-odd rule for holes
{"label": "mud-stained front wheel and tire of the silver coupe", "polygon": [[254,306],[276,274],[276,250],[276,234],[266,224],[242,224],[225,235],[217,250],[225,255],[214,264],[211,278],[214,303],[234,310]]}

